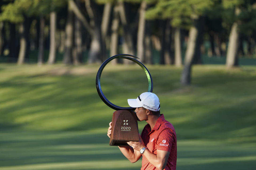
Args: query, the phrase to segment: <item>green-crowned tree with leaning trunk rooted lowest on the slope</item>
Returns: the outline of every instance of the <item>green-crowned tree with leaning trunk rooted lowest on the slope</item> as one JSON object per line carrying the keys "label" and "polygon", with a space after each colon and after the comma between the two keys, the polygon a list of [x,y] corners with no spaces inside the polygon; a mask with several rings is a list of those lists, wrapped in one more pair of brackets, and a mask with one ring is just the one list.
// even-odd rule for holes
{"label": "green-crowned tree with leaning trunk rooted lowest on the slope", "polygon": [[[171,25],[174,28],[183,27],[190,30],[185,64],[181,75],[182,85],[190,84],[193,60],[200,61],[203,16],[205,10],[212,5],[213,1],[211,0],[159,0],[147,11],[147,18],[171,19]],[[179,36],[175,36],[175,38],[179,38]],[[180,50],[178,47],[177,45],[175,51]]]}

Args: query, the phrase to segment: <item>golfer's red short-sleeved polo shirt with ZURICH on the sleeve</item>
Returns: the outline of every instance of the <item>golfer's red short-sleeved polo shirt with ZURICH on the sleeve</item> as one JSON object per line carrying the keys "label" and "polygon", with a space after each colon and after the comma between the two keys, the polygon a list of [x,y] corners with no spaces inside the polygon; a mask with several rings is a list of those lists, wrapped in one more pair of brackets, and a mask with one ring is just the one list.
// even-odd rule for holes
{"label": "golfer's red short-sleeved polo shirt with ZURICH on the sleeve", "polygon": [[[154,128],[150,131],[150,125],[147,124],[141,133],[141,138],[153,154],[157,154],[157,150],[170,152],[165,170],[175,170],[177,161],[177,140],[173,125],[165,120],[163,114],[157,119]],[[141,170],[156,169],[147,158],[142,155]]]}

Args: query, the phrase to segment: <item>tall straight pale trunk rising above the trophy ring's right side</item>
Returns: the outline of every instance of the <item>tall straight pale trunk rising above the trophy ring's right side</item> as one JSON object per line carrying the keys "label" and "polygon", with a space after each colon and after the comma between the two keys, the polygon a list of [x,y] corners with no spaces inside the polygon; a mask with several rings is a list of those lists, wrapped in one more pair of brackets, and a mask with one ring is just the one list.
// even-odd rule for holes
{"label": "tall straight pale trunk rising above the trophy ring's right side", "polygon": [[138,23],[138,34],[137,34],[137,57],[138,60],[144,62],[144,34],[145,34],[145,10],[147,7],[146,1],[141,2],[139,9],[139,23]]}

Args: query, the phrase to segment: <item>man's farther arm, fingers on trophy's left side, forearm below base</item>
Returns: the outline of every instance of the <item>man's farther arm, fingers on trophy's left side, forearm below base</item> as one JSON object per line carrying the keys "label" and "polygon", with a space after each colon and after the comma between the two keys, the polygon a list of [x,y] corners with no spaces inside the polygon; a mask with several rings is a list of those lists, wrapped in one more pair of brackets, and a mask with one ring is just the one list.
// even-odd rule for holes
{"label": "man's farther arm, fingers on trophy's left side, forearm below base", "polygon": [[[112,129],[112,122],[109,123],[109,129],[107,131],[107,136],[110,138]],[[141,137],[140,137],[141,138]],[[122,154],[131,162],[137,162],[141,158],[141,153],[134,150],[131,146],[118,146]]]}

